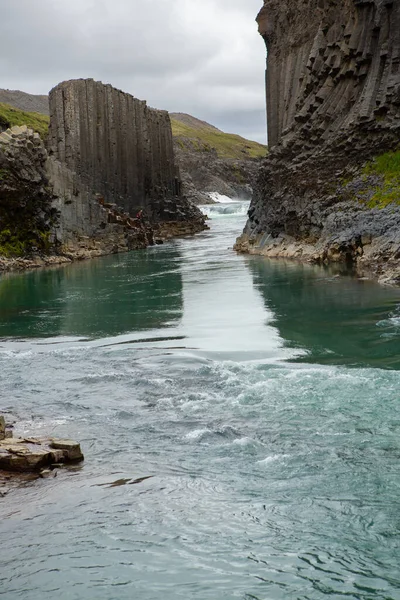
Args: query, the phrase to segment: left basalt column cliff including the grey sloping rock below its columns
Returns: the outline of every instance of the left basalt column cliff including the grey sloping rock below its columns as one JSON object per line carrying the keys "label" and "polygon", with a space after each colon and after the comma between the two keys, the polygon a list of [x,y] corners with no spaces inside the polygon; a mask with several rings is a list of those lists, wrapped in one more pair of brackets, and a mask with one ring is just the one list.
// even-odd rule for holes
{"label": "left basalt column cliff including the grey sloping rock below its columns", "polygon": [[66,81],[50,92],[47,146],[62,243],[111,239],[122,250],[140,209],[176,233],[204,228],[181,194],[166,111],[92,79]]}

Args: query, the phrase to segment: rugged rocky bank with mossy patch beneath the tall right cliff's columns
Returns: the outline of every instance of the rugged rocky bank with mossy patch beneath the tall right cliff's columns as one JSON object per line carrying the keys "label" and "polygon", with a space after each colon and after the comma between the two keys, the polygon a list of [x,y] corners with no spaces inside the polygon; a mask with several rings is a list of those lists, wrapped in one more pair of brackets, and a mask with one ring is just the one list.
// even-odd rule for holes
{"label": "rugged rocky bank with mossy patch beneath the tall right cliff's columns", "polygon": [[[393,135],[391,131],[389,135]],[[396,146],[395,140],[393,146]],[[355,143],[354,148],[357,147],[359,144]],[[360,277],[398,285],[400,208],[396,200],[399,197],[396,163],[400,154],[388,152],[357,167],[354,163],[351,166],[350,148],[342,164],[338,158],[335,160],[335,152],[310,159],[307,165],[309,171],[302,163],[301,179],[295,162],[282,161],[279,166],[266,164],[261,184],[266,186],[264,190],[267,186],[274,189],[274,184],[267,184],[266,178],[275,178],[277,172],[278,180],[282,177],[287,187],[276,192],[276,196],[271,194],[272,201],[267,210],[260,205],[250,207],[249,223],[236,241],[235,249],[270,258],[342,264]],[[373,145],[369,152],[373,156]],[[368,156],[367,149],[364,155]],[[345,160],[347,165],[343,164]],[[379,168],[381,163],[382,169]],[[391,163],[393,167],[390,167]],[[312,173],[324,173],[326,180],[317,179]],[[302,194],[301,203],[293,202],[291,190],[295,186],[297,193]],[[278,198],[279,204],[276,202]],[[251,222],[259,218],[259,210],[263,210],[264,219],[260,219],[261,231],[254,227],[254,221]],[[267,231],[263,231],[266,219],[269,226]]]}

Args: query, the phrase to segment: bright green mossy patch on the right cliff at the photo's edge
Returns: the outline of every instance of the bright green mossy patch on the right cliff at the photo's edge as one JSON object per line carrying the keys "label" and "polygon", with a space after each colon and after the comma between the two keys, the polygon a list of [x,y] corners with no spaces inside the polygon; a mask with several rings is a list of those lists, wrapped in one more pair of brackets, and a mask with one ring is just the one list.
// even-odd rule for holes
{"label": "bright green mossy patch on the right cliff at the photo's edge", "polygon": [[378,175],[382,180],[367,203],[369,208],[384,208],[392,203],[400,205],[400,150],[381,154],[364,167],[363,174]]}

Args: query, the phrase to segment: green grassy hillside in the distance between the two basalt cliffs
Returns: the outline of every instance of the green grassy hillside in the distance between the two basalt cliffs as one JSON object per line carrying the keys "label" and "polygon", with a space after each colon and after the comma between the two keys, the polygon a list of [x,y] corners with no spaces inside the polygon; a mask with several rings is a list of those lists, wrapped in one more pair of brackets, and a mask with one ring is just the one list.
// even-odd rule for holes
{"label": "green grassy hillside in the distance between the two basalt cliffs", "polygon": [[215,131],[212,127],[190,127],[171,118],[172,135],[179,146],[189,139],[192,147],[199,152],[215,150],[220,158],[262,158],[267,155],[267,146],[246,140],[240,135]]}

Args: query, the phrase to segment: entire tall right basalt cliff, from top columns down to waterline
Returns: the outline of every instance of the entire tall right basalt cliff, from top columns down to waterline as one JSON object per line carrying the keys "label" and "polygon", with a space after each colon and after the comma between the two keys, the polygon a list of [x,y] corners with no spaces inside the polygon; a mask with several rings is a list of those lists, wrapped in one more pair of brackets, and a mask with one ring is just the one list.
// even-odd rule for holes
{"label": "entire tall right basalt cliff, from top columns down to waterline", "polygon": [[400,0],[265,0],[270,155],[236,248],[400,279]]}

